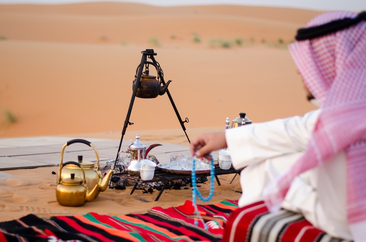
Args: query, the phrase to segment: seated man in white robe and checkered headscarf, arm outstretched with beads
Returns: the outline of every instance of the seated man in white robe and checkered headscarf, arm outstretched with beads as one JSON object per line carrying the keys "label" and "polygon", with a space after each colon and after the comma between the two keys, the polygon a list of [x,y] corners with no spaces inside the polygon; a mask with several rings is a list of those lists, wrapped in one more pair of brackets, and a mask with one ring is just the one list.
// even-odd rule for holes
{"label": "seated man in white robe and checkered headscarf, arm outstretched with beads", "polygon": [[246,167],[239,207],[264,200],[333,237],[366,241],[366,12],[319,15],[296,40],[290,53],[321,108],[202,134],[191,153],[228,147],[234,168]]}

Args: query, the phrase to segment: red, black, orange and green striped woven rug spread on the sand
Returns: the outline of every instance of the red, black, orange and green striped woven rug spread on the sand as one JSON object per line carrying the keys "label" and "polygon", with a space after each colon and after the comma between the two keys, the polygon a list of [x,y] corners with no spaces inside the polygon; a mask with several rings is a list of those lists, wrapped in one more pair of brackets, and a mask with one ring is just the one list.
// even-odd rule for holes
{"label": "red, black, orange and green striped woven rug spread on the sand", "polygon": [[194,225],[194,208],[188,200],[182,206],[155,207],[144,214],[107,216],[87,213],[49,219],[30,214],[0,223],[0,241],[221,241],[224,224],[229,214],[237,208],[238,203],[233,200],[198,205],[208,230],[202,223]]}

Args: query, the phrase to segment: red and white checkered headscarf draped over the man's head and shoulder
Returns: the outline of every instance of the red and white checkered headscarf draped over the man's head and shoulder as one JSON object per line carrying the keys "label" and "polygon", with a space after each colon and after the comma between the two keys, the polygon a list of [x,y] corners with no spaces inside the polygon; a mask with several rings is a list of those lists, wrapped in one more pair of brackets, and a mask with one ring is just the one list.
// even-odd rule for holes
{"label": "red and white checkered headscarf draped over the man's head and shoulder", "polygon": [[[355,17],[351,12],[328,12],[311,20],[307,27]],[[305,153],[287,173],[266,187],[266,204],[272,210],[278,209],[297,175],[344,150],[348,224],[366,221],[366,21],[295,42],[289,48],[322,110]]]}

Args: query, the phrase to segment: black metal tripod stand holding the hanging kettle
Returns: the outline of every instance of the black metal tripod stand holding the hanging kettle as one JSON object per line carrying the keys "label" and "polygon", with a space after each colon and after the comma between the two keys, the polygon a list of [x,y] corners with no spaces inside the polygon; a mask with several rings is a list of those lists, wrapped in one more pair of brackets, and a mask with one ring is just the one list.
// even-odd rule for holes
{"label": "black metal tripod stand holding the hanging kettle", "polygon": [[[141,53],[142,53],[141,64],[140,64],[139,69],[138,69],[138,73],[137,73],[137,77],[136,77],[137,79],[136,79],[135,88],[134,88],[134,90],[132,92],[130,107],[128,108],[128,111],[127,111],[126,120],[124,121],[123,130],[122,130],[122,137],[121,137],[121,141],[119,143],[119,147],[118,147],[118,151],[117,151],[117,156],[116,156],[116,160],[115,160],[115,163],[114,163],[114,167],[116,167],[116,163],[117,163],[117,159],[118,159],[118,153],[121,150],[123,136],[126,133],[127,126],[133,124],[133,123],[130,122],[130,115],[131,115],[132,106],[134,105],[134,101],[135,101],[135,97],[136,97],[136,93],[137,93],[137,88],[139,86],[139,82],[140,82],[140,79],[141,79],[141,75],[142,75],[142,71],[143,71],[143,66],[145,64],[153,64],[154,66],[156,66],[158,68],[158,75],[160,77],[160,81],[161,81],[161,83],[163,85],[165,85],[163,71],[160,68],[159,63],[157,63],[157,61],[154,58],[154,56],[156,56],[157,54],[154,53],[154,50],[153,49],[146,49],[145,51],[141,51]],[[149,57],[152,60],[152,62],[146,61],[147,60],[147,57]],[[176,108],[176,106],[174,104],[174,101],[172,99],[172,96],[170,95],[169,90],[167,90],[167,95],[169,97],[170,102],[172,103],[173,109],[175,111],[175,114],[178,117],[179,123],[182,126],[182,129],[183,129],[184,133],[186,134],[186,137],[188,139],[188,142],[191,143],[191,141],[188,138],[187,132],[186,132],[186,127],[184,126],[184,123],[185,122],[188,123],[189,120],[188,120],[188,118],[186,118],[184,121],[182,120],[182,118],[180,117],[180,115],[178,113],[178,109]],[[113,174],[112,174],[112,177],[113,177]],[[109,186],[111,186],[111,181],[109,181]]]}

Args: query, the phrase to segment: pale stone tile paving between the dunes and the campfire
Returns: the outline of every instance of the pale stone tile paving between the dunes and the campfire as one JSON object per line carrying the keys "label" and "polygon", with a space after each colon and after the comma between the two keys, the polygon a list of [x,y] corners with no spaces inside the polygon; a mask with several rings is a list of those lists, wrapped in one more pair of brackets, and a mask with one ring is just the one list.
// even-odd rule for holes
{"label": "pale stone tile paving between the dunes and the campfire", "polygon": [[[45,166],[59,166],[62,147],[70,140],[78,137],[26,137],[0,139],[0,171],[14,169],[30,169]],[[111,159],[115,159],[120,140],[112,139],[86,139],[96,148],[99,155],[100,166]],[[143,142],[143,141],[142,141]],[[121,151],[126,151],[130,140],[123,140]],[[148,146],[151,143],[143,143]],[[180,151],[189,153],[188,145],[160,143],[161,146],[153,148],[149,155],[154,155],[160,163],[169,162],[170,152]],[[213,152],[216,159],[218,152]],[[83,160],[95,162],[96,154],[93,148],[86,144],[74,143],[65,148],[63,162],[76,161],[78,155],[83,155]],[[0,178],[2,177],[0,172]]]}

